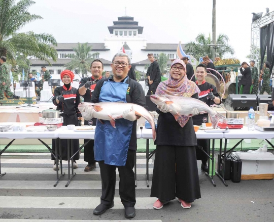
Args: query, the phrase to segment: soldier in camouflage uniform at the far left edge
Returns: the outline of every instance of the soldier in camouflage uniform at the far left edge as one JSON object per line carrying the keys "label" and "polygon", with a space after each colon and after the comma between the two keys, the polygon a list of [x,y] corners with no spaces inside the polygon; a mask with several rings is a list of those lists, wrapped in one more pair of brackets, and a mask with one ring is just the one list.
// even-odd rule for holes
{"label": "soldier in camouflage uniform at the far left edge", "polygon": [[12,97],[13,99],[20,99],[20,97],[11,92],[11,79],[6,61],[7,58],[5,56],[0,58],[0,63],[2,64],[0,71],[0,100],[4,99],[4,92],[6,92],[7,96]]}

